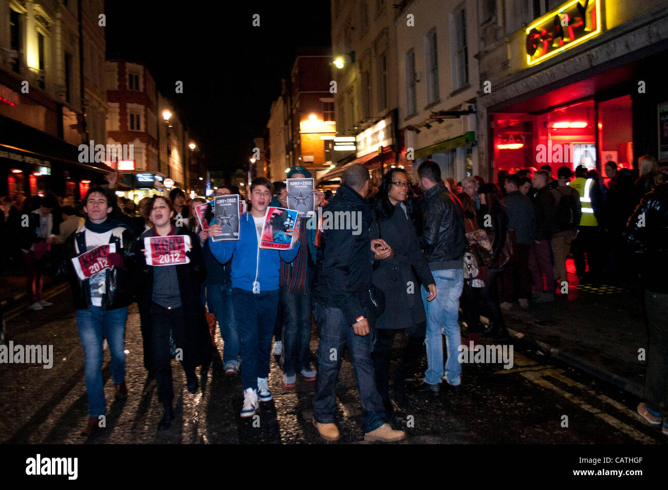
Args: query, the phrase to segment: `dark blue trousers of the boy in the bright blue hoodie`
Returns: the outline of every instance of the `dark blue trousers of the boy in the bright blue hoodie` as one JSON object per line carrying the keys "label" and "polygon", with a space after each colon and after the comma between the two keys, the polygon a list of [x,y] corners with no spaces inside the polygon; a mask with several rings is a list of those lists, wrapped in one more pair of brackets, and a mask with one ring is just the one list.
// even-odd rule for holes
{"label": "dark blue trousers of the boy in the bright blue hoodie", "polygon": [[257,390],[257,378],[269,376],[271,335],[274,332],[276,312],[279,308],[279,290],[253,294],[238,287],[232,288],[234,318],[238,327],[241,358],[241,382],[244,390]]}

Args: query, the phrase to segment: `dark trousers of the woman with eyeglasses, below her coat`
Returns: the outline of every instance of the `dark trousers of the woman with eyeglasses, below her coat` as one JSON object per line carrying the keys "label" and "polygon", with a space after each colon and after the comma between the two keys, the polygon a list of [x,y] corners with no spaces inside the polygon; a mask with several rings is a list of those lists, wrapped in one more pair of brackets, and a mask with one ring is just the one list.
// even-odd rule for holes
{"label": "dark trousers of the woman with eyeglasses, below her coat", "polygon": [[[420,322],[405,329],[406,344],[401,352],[401,358],[394,372],[395,386],[411,374],[415,363],[424,350],[424,337],[427,330],[427,322]],[[383,399],[384,404],[389,404],[387,385],[389,381],[389,360],[391,358],[392,343],[397,330],[379,328],[376,330],[375,344],[373,345],[373,372],[375,373],[376,388]]]}

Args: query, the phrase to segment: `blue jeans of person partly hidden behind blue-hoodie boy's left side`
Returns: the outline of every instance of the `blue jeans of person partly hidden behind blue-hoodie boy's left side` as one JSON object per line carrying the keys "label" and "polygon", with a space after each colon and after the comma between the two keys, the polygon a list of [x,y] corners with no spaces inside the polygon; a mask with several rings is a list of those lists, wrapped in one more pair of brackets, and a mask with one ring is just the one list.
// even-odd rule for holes
{"label": "blue jeans of person partly hidden behind blue-hoodie boy's left side", "polygon": [[216,316],[222,337],[222,364],[225,369],[231,364],[239,366],[239,334],[232,307],[232,283],[206,286],[209,313]]}

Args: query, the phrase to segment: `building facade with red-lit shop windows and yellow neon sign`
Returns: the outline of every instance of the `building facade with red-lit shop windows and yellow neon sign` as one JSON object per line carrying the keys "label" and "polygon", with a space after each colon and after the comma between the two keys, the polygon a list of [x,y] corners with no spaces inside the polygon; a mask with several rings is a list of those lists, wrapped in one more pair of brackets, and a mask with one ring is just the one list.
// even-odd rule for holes
{"label": "building facade with red-lit shop windows and yellow neon sign", "polygon": [[498,170],[668,162],[668,3],[481,2],[478,127]]}

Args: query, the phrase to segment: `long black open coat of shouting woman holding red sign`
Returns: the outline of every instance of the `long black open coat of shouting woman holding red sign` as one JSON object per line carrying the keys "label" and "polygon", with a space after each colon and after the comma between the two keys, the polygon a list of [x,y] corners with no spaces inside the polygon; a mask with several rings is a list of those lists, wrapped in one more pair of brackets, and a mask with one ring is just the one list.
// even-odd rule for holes
{"label": "long black open coat of shouting woman holding red sign", "polygon": [[[181,293],[181,306],[184,312],[184,322],[182,328],[172,330],[174,343],[183,348],[184,364],[188,366],[200,366],[208,364],[211,360],[211,337],[206,324],[206,315],[204,305],[200,300],[200,283],[206,277],[206,267],[204,266],[204,255],[197,235],[189,233],[184,227],[177,227],[174,235],[188,235],[192,248],[186,253],[190,257],[190,263],[161,266],[176,267],[176,277],[178,287]],[[150,312],[150,305],[153,297],[153,268],[154,266],[146,264],[146,257],[141,249],[144,248],[144,238],[152,237],[153,229],[146,230],[139,238],[140,243],[137,247],[137,267],[140,271],[137,278],[137,302],[145,314],[142,315],[142,330],[148,334],[152,328],[151,316],[146,314]],[[144,325],[144,322],[148,324]]]}

